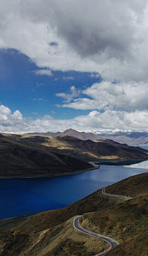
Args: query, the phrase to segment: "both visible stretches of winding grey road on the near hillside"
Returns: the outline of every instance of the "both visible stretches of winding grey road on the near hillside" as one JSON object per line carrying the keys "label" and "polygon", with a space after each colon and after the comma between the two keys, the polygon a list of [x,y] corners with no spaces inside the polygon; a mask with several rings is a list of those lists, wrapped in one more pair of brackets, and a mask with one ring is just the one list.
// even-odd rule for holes
{"label": "both visible stretches of winding grey road on the near hillside", "polygon": [[[133,199],[132,197],[127,197],[127,196],[118,196],[118,195],[113,195],[113,194],[107,194],[105,192],[105,188],[107,188],[107,186],[105,186],[104,188],[102,188],[102,194],[104,196],[113,196],[113,197],[116,197],[118,199],[121,199],[121,200],[130,200],[130,199]],[[82,215],[81,215],[82,216]],[[101,252],[99,254],[96,254],[94,256],[99,256],[99,255],[105,255],[107,254],[107,252],[109,252],[110,250],[112,250],[115,246],[118,246],[119,242],[116,241],[115,239],[111,238],[111,237],[108,237],[108,236],[103,236],[102,234],[97,234],[97,233],[94,233],[92,231],[89,231],[87,229],[84,229],[82,228],[82,226],[80,226],[80,218],[81,216],[77,216],[74,218],[73,220],[73,226],[74,228],[76,228],[78,231],[80,232],[83,232],[84,234],[88,234],[89,236],[94,236],[94,237],[97,237],[99,239],[102,239],[104,240],[105,242],[108,242],[109,243],[109,248],[107,250],[104,250],[104,252]]]}

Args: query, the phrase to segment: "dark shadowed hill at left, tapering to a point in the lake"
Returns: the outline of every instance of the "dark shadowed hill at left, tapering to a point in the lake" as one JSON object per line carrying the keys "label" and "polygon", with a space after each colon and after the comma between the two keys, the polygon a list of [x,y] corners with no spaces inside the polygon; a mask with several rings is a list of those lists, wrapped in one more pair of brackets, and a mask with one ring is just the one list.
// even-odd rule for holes
{"label": "dark shadowed hill at left, tapering to a point in the lake", "polygon": [[0,138],[1,177],[63,175],[85,168],[92,168],[92,165],[68,155],[24,144],[17,136]]}

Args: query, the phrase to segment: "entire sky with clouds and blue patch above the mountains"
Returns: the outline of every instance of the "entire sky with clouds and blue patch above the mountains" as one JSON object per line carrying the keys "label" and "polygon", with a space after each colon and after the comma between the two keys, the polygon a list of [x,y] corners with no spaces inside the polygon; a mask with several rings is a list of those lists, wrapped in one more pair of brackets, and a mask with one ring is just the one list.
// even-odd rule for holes
{"label": "entire sky with clouds and blue patch above the mountains", "polygon": [[0,132],[148,131],[148,0],[0,0]]}

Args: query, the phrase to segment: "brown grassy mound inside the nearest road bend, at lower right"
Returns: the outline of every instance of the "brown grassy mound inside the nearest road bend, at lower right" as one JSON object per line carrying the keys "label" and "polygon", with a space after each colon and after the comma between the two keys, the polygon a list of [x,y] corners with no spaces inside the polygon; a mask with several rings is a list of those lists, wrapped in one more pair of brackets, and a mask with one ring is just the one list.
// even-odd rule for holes
{"label": "brown grassy mound inside the nearest road bend, at lower right", "polygon": [[[102,212],[86,213],[82,226],[120,242],[109,255],[146,255],[148,242],[148,196],[128,200]],[[137,244],[138,242],[138,244]],[[131,252],[131,248],[134,249]]]}

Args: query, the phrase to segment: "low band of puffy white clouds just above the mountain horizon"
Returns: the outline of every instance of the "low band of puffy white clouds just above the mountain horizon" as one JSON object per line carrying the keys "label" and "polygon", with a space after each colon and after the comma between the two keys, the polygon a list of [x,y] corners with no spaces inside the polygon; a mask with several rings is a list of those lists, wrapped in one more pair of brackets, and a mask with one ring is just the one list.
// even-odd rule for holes
{"label": "low band of puffy white clouds just above the mountain horizon", "polygon": [[44,115],[36,120],[22,117],[19,110],[12,114],[11,110],[0,105],[0,132],[3,133],[31,133],[47,131],[64,131],[73,128],[78,131],[98,131],[109,129],[147,130],[148,110],[123,112],[105,110],[101,113],[97,110],[88,115],[80,115],[70,120],[55,120],[50,115]]}

